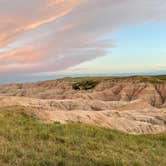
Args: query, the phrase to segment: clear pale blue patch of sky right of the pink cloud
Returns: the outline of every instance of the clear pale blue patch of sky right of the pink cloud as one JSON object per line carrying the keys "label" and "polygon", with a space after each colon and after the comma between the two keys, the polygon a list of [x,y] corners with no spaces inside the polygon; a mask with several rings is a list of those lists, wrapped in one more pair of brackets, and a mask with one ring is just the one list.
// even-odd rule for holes
{"label": "clear pale blue patch of sky right of the pink cloud", "polygon": [[[150,22],[120,28],[103,39],[114,41],[104,57],[85,62],[72,70],[80,73],[159,72],[166,70],[166,23]],[[105,68],[102,70],[101,68]]]}

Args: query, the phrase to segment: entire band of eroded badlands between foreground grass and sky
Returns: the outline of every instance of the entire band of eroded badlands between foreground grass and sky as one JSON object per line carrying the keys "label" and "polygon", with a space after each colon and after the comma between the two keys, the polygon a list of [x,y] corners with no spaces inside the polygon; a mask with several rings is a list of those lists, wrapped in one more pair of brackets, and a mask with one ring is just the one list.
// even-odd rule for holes
{"label": "entire band of eroded badlands between foreground grass and sky", "polygon": [[[0,86],[0,107],[45,122],[86,123],[134,134],[166,132],[166,77],[60,79]],[[93,86],[92,86],[93,85]]]}

